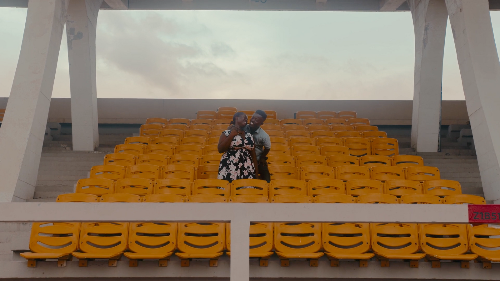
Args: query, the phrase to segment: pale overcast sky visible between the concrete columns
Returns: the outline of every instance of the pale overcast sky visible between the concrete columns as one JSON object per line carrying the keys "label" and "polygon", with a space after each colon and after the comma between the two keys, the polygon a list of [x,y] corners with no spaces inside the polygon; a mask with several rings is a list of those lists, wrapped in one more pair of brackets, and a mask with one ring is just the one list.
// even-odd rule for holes
{"label": "pale overcast sky visible between the concrete columns", "polygon": [[[0,96],[25,18],[0,8]],[[96,37],[98,97],[413,98],[410,12],[100,10]],[[52,97],[69,97],[62,38]],[[449,22],[442,87],[464,99]]]}

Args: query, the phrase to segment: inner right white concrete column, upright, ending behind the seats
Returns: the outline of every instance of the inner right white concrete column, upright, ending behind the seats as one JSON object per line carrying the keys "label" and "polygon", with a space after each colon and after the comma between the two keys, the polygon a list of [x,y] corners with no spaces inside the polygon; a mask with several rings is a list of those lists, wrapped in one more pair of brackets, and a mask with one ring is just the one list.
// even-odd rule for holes
{"label": "inner right white concrete column, upright, ending behind the seats", "polygon": [[412,0],[409,6],[415,31],[411,147],[437,152],[448,13],[444,0]]}

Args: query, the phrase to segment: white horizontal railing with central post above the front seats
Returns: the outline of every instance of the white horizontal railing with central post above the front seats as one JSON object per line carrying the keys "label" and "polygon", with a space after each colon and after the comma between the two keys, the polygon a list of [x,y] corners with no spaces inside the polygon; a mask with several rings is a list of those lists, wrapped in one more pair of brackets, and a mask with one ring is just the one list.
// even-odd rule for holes
{"label": "white horizontal railing with central post above the front seats", "polygon": [[0,203],[0,222],[41,221],[230,222],[230,279],[248,281],[252,221],[467,223],[468,208],[466,204]]}

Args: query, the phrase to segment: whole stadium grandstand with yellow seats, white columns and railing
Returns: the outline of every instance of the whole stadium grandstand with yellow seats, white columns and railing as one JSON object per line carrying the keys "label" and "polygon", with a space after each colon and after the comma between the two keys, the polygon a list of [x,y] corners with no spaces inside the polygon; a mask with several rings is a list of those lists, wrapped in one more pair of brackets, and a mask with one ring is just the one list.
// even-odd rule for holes
{"label": "whole stadium grandstand with yellow seats, white columns and railing", "polygon": [[[500,0],[1,6],[27,7],[27,17],[0,98],[0,278],[499,278],[500,61],[489,11]],[[99,8],[411,11],[414,99],[97,98]],[[448,16],[464,101],[440,96]],[[81,36],[68,50],[71,98],[51,98],[64,24]],[[270,182],[217,179],[221,132],[257,109]]]}

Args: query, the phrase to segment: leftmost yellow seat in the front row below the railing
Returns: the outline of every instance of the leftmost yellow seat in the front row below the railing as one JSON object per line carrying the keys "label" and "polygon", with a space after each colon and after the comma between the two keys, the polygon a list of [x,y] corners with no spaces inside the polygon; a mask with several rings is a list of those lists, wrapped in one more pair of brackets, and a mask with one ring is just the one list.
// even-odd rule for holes
{"label": "leftmost yellow seat in the front row below the railing", "polygon": [[33,222],[29,236],[29,250],[20,256],[28,260],[28,267],[36,267],[36,260],[57,258],[57,266],[65,267],[71,253],[78,247],[79,222]]}

